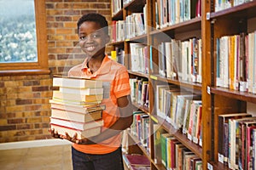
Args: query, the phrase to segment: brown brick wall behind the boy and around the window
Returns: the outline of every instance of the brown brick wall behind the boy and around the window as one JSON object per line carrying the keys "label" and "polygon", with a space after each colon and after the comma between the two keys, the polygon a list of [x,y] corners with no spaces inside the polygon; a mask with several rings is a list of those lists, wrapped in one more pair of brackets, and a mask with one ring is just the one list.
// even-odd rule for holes
{"label": "brown brick wall behind the boy and around the window", "polygon": [[46,0],[50,75],[0,77],[0,143],[49,139],[52,79],[83,60],[77,20],[96,12],[111,20],[108,0]]}

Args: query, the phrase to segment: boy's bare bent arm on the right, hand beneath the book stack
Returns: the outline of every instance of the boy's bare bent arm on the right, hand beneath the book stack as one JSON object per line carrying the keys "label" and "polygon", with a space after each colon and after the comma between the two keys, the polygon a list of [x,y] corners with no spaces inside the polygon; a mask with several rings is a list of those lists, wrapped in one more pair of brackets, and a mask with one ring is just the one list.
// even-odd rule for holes
{"label": "boy's bare bent arm on the right, hand beneath the book stack", "polygon": [[77,139],[76,135],[73,136],[72,138],[66,133],[66,136],[62,136],[62,138],[67,139],[76,144],[97,144],[102,142],[105,139],[109,139],[121,133],[127,127],[130,127],[133,121],[133,116],[132,116],[133,105],[131,104],[131,96],[127,95],[127,96],[118,98],[117,104],[119,106],[119,112],[120,112],[119,119],[117,120],[117,122],[113,123],[111,127],[108,127],[108,129],[103,131],[101,134],[91,137],[89,139]]}

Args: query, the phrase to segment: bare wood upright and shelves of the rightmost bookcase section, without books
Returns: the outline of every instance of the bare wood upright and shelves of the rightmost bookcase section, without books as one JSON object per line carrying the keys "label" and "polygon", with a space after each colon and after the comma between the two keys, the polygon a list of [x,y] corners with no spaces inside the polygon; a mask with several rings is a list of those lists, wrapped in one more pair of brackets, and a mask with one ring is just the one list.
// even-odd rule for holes
{"label": "bare wood upright and shelves of the rightmost bookcase section, without books", "polygon": [[[205,150],[210,150],[209,155],[207,155],[207,165],[209,168],[229,169],[228,165],[224,165],[218,161],[218,143],[213,142],[218,141],[218,115],[232,112],[247,112],[250,110],[249,104],[256,104],[256,95],[240,91],[239,88],[230,89],[218,86],[218,80],[216,78],[218,77],[216,67],[218,65],[217,39],[224,36],[232,37],[234,35],[240,35],[242,32],[248,34],[255,31],[256,26],[252,20],[255,20],[256,17],[254,12],[256,1],[247,1],[247,3],[241,4],[234,3],[233,5],[231,4],[230,8],[223,9],[214,8],[212,4],[214,3],[205,3],[203,8],[206,10],[207,17],[205,20],[202,20],[204,34],[208,32],[203,39],[212,40],[211,42],[207,42],[204,47],[206,59],[211,61],[211,64],[207,65],[206,72],[211,73],[212,77],[207,80],[207,84],[204,87],[208,90],[207,92],[209,94],[205,98],[205,103],[208,107],[211,107],[211,110],[205,110],[211,116],[208,116],[207,122],[204,124],[208,123],[211,125],[211,128],[207,129],[207,133],[212,136],[212,141],[207,140]],[[255,113],[255,110],[253,112]]]}

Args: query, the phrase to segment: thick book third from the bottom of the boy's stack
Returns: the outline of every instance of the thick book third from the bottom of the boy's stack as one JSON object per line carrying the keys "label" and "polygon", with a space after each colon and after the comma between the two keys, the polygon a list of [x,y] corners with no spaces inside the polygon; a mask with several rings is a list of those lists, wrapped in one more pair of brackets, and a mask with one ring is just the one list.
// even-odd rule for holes
{"label": "thick book third from the bottom of the boy's stack", "polygon": [[89,113],[84,114],[74,111],[65,111],[52,108],[51,116],[73,122],[91,122],[102,118],[102,110],[90,111]]}

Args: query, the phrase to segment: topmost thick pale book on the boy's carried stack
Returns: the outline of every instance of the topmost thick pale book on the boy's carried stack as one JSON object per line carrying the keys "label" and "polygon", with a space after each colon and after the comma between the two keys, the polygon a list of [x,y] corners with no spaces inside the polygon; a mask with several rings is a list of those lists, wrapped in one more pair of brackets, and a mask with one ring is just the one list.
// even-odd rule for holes
{"label": "topmost thick pale book on the boy's carried stack", "polygon": [[53,77],[54,87],[66,88],[102,88],[100,80],[85,79],[80,77]]}

